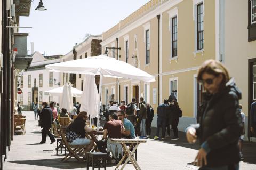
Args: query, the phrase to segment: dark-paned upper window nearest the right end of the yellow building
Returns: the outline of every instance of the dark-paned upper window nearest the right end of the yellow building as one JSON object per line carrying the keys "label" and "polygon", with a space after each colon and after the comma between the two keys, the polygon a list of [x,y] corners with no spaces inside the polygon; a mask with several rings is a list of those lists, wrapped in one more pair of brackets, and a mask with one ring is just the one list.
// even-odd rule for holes
{"label": "dark-paned upper window nearest the right end of the yellow building", "polygon": [[204,48],[203,3],[197,5],[197,50]]}

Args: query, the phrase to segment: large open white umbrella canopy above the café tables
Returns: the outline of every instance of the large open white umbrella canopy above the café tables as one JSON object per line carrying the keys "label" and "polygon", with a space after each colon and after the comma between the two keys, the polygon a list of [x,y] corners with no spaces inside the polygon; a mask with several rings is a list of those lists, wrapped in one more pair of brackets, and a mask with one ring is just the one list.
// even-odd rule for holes
{"label": "large open white umbrella canopy above the caf\u00e9 tables", "polygon": [[93,56],[86,59],[71,60],[46,65],[47,70],[75,74],[105,75],[144,82],[154,82],[155,77],[124,61],[116,60],[105,55]]}

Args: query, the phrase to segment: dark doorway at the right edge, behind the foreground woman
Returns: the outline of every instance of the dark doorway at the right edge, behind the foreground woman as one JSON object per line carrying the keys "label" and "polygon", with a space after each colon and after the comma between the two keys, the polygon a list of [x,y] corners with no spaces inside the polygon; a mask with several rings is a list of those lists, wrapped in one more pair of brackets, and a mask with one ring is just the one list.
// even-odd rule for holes
{"label": "dark doorway at the right edge, behind the foreground woman", "polygon": [[[251,133],[251,104],[256,101],[256,58],[249,59],[248,62],[248,137],[256,137],[255,133]],[[255,127],[254,127],[255,128]]]}

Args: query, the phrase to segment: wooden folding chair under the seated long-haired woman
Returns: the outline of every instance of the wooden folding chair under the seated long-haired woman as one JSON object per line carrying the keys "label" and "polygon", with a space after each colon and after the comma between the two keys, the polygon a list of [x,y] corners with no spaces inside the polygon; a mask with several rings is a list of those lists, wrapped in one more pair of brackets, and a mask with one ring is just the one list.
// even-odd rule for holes
{"label": "wooden folding chair under the seated long-haired woman", "polygon": [[84,161],[83,158],[81,158],[78,153],[81,152],[81,150],[84,150],[87,145],[69,145],[66,136],[63,132],[63,127],[62,125],[60,125],[60,134],[61,134],[61,138],[62,141],[65,145],[65,147],[68,150],[68,155],[66,155],[63,159],[61,159],[62,161],[67,161],[69,158],[74,157],[76,158],[78,161]]}

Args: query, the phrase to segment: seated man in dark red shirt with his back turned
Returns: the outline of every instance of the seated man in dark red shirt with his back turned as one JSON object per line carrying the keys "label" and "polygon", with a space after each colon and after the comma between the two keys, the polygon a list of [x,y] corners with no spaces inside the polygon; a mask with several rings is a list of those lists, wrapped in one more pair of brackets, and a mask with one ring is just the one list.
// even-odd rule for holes
{"label": "seated man in dark red shirt with his back turned", "polygon": [[[124,126],[121,120],[119,120],[117,114],[114,112],[110,114],[109,121],[104,125],[103,143],[97,143],[98,149],[103,152],[103,145],[107,140],[107,151],[112,152],[114,159],[118,159],[122,155],[123,150],[121,144],[116,144],[111,141],[110,138],[122,138],[122,132],[124,132]],[[108,136],[108,137],[107,137]]]}

